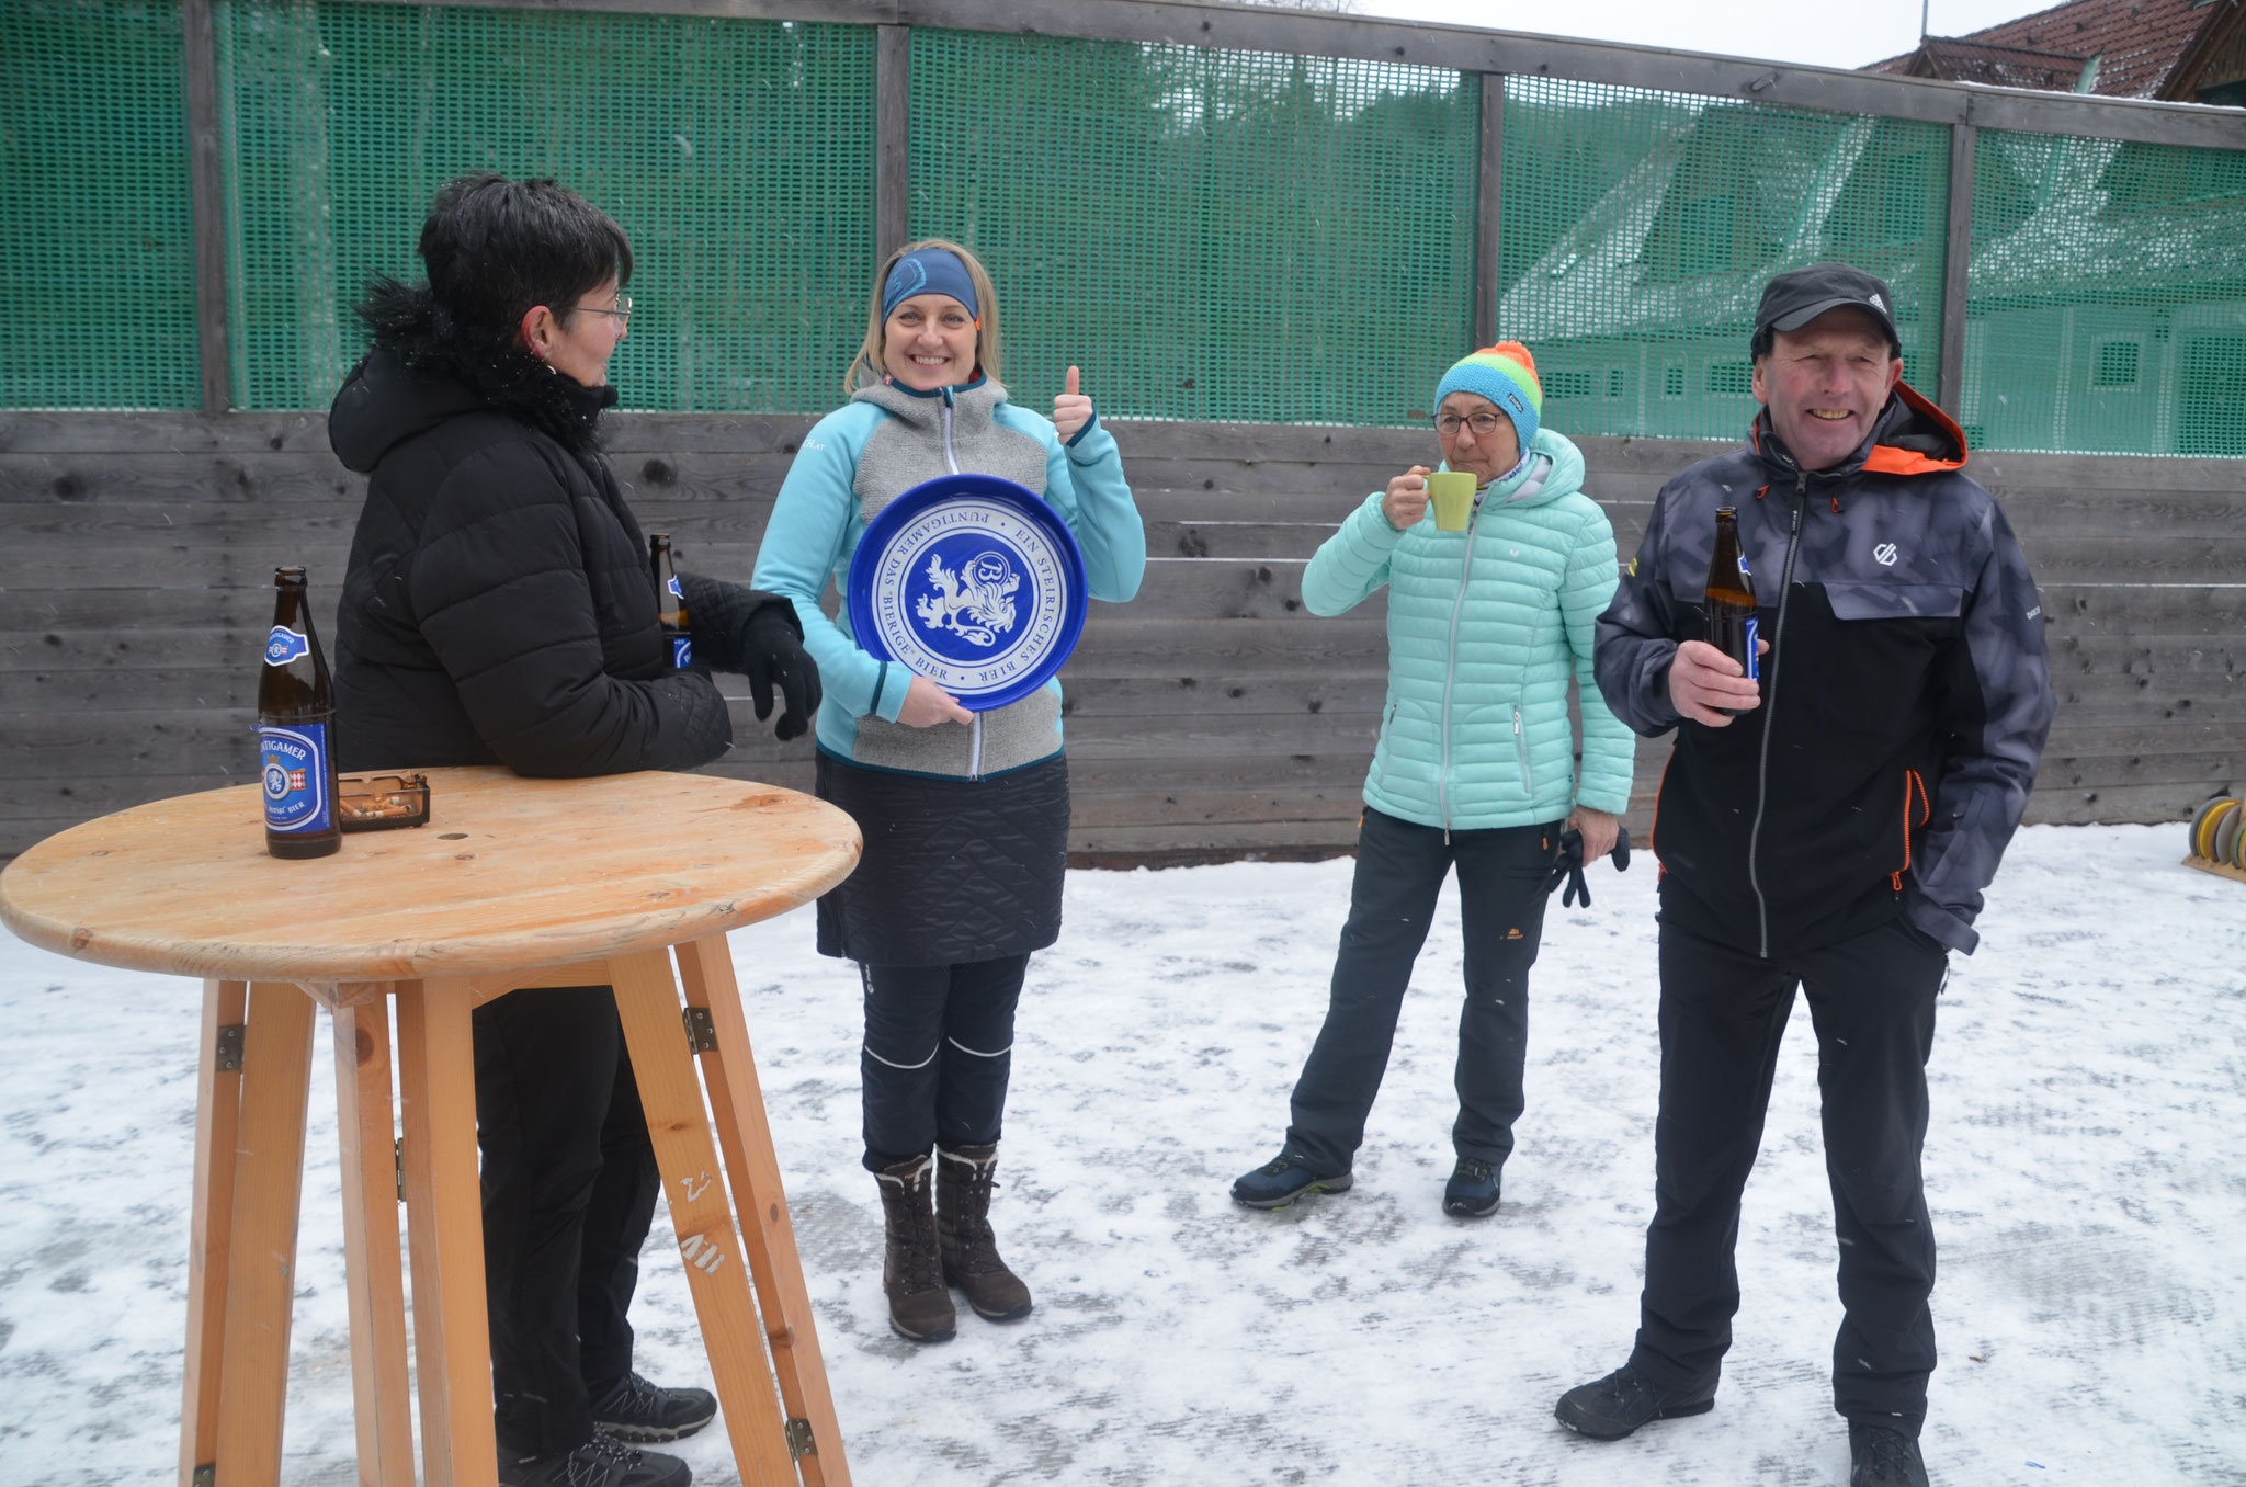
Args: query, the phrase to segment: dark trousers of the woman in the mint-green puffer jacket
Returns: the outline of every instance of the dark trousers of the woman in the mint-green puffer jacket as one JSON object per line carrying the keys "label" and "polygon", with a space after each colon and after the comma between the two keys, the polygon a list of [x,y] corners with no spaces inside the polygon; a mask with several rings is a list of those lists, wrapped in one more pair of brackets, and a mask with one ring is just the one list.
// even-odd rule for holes
{"label": "dark trousers of the woman in the mint-green puffer jacket", "polygon": [[1341,928],[1325,1027],[1294,1083],[1287,1146],[1321,1173],[1348,1173],[1388,1071],[1413,959],[1435,919],[1435,894],[1458,865],[1467,941],[1467,1004],[1458,1013],[1460,1157],[1503,1168],[1521,1119],[1530,1047],[1530,966],[1543,939],[1545,876],[1559,822],[1449,831],[1366,809],[1357,831],[1350,921]]}

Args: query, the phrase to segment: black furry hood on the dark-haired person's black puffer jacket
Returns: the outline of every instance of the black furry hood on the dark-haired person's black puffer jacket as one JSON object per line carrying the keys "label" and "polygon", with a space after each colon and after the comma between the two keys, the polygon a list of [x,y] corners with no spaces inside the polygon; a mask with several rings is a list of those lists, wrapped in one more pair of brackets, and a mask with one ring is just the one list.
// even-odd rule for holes
{"label": "black furry hood on the dark-haired person's black puffer jacket", "polygon": [[328,411],[328,443],[346,469],[366,474],[402,440],[478,411],[508,413],[570,454],[600,447],[613,386],[584,386],[528,350],[476,346],[427,288],[377,281],[359,319],[375,348]]}

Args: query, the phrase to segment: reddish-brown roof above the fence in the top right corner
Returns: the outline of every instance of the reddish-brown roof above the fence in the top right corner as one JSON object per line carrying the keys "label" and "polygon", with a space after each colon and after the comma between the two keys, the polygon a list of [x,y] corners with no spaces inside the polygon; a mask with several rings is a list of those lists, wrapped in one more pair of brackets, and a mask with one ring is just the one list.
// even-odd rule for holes
{"label": "reddish-brown roof above the fence in the top right corner", "polygon": [[[1927,36],[1916,52],[1871,63],[1864,72],[2109,99],[2172,99],[2188,81],[2176,76],[2179,63],[2188,54],[2203,58],[2208,47],[2194,43],[2235,29],[2239,9],[2239,0],[2071,0],[1967,36]],[[2098,67],[2084,88],[2093,58]]]}

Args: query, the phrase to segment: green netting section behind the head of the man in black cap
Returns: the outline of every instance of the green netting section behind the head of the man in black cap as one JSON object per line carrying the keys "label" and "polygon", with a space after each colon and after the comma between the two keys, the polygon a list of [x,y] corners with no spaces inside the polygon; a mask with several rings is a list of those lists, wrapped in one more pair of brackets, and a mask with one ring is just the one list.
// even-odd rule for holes
{"label": "green netting section behind the head of the man in black cap", "polygon": [[1763,281],[1842,258],[1889,283],[1932,391],[1947,195],[1938,124],[1507,79],[1498,326],[1556,429],[1741,438]]}

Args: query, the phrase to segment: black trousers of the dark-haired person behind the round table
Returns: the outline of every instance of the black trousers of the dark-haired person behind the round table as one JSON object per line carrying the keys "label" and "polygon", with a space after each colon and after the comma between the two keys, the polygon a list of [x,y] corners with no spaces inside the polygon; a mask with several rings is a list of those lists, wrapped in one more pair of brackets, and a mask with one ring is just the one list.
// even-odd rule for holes
{"label": "black trousers of the dark-haired person behind the round table", "polygon": [[631,1370],[663,1177],[606,986],[517,991],[474,1027],[499,1444],[570,1451],[593,1440],[591,1388]]}

